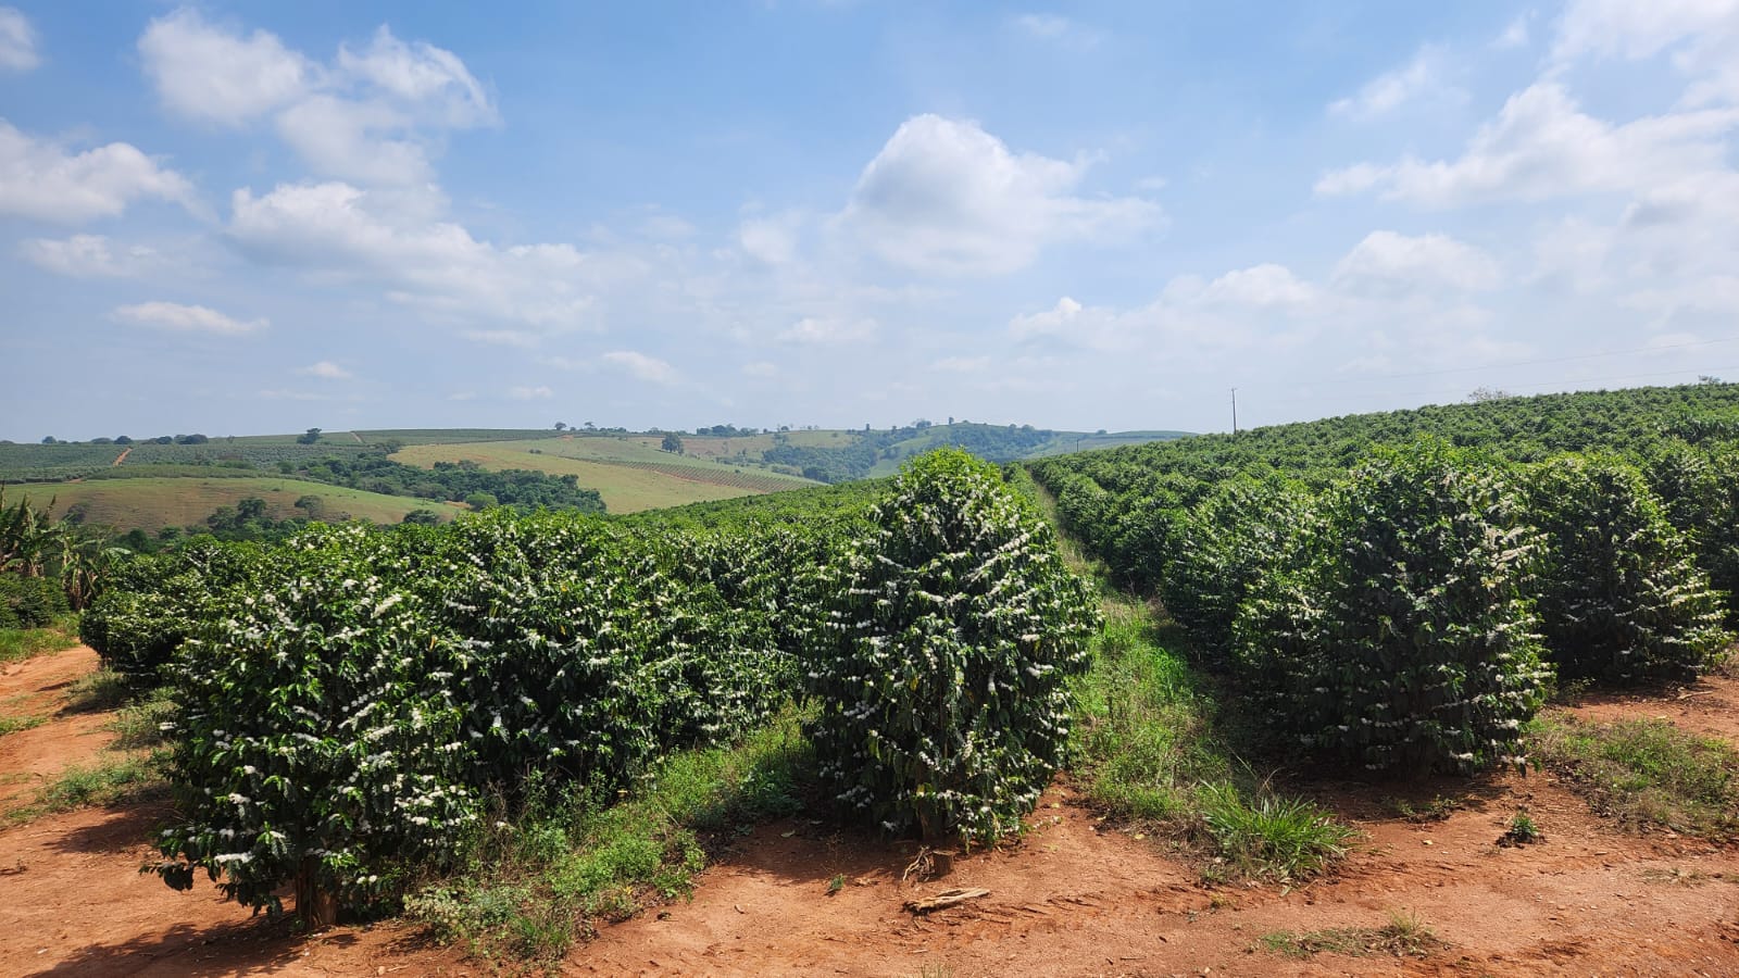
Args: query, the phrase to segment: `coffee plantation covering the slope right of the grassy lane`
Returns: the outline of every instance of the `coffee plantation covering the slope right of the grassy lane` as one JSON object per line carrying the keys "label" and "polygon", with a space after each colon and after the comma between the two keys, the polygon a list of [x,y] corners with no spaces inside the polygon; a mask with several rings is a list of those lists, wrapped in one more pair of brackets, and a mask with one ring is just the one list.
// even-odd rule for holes
{"label": "coffee plantation covering the slope right of the grassy lane", "polygon": [[1029,468],[1276,750],[1471,771],[1523,760],[1555,682],[1696,675],[1732,642],[1736,405],[1720,383],[1513,397]]}

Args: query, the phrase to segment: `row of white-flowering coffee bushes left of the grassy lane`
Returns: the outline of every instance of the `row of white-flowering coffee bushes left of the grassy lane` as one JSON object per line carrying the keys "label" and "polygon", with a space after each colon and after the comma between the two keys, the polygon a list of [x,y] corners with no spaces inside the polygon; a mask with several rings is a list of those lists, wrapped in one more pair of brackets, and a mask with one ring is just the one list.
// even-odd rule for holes
{"label": "row of white-flowering coffee bushes left of the grassy lane", "polygon": [[[941,452],[849,519],[725,524],[483,513],[141,564],[90,637],[134,668],[170,646],[158,872],[390,901],[496,806],[612,797],[802,698],[847,814],[986,839],[1031,809],[1094,606],[995,468]],[[179,635],[139,611],[177,600]]]}

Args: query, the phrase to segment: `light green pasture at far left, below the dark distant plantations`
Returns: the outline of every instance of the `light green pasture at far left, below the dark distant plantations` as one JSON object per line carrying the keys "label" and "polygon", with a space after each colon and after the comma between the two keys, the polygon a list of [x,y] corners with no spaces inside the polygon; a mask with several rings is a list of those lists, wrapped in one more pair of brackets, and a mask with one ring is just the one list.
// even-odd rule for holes
{"label": "light green pasture at far left, below the dark distant plantations", "polygon": [[[266,501],[266,515],[275,520],[306,515],[296,508],[303,496],[320,496],[325,519],[363,519],[377,524],[396,524],[410,510],[435,510],[443,515],[459,508],[431,499],[407,496],[381,496],[343,486],[306,482],[301,479],[103,479],[90,482],[56,482],[49,486],[19,486],[14,492],[30,498],[33,506],[47,506],[59,517],[71,506],[82,506],[87,524],[113,526],[118,531],[155,531],[163,526],[197,526],[219,506],[233,506],[250,496]],[[7,492],[7,499],[14,498]]]}

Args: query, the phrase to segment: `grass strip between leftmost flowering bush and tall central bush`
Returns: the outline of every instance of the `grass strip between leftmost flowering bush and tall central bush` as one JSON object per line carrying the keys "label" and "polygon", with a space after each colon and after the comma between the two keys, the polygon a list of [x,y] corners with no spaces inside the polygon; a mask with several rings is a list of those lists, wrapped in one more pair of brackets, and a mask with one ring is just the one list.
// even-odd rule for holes
{"label": "grass strip between leftmost flowering bush and tall central bush", "polygon": [[619,804],[577,794],[494,821],[405,912],[476,957],[550,966],[596,924],[692,894],[703,839],[798,811],[798,726],[788,715],[737,747],[676,754]]}

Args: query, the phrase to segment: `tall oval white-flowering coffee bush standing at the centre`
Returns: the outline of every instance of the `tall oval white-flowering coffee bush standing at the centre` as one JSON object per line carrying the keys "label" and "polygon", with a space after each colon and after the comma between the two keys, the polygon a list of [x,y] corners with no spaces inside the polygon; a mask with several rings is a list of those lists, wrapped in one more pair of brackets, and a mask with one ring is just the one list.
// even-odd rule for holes
{"label": "tall oval white-flowering coffee bush standing at the centre", "polygon": [[828,569],[809,663],[819,774],[887,832],[1019,827],[1068,740],[1097,611],[1050,527],[958,449],[915,459]]}

